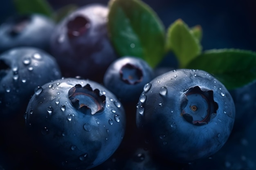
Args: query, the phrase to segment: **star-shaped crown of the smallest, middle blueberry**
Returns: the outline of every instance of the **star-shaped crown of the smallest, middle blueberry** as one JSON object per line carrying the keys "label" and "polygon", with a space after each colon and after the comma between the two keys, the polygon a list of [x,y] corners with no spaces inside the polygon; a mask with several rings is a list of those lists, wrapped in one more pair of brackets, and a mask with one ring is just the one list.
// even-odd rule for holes
{"label": "star-shaped crown of the smallest, middle blueberry", "polygon": [[137,84],[142,81],[142,70],[130,63],[125,64],[119,71],[121,79],[127,84]]}

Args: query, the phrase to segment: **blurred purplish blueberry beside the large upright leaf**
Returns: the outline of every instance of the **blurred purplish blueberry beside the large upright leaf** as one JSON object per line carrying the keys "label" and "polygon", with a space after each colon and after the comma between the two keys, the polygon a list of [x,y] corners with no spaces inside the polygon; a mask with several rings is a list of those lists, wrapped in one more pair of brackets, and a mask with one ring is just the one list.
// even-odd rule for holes
{"label": "blurred purplish blueberry beside the large upright leaf", "polygon": [[117,58],[108,38],[107,16],[107,7],[90,4],[57,24],[50,46],[64,77],[102,83],[106,69]]}

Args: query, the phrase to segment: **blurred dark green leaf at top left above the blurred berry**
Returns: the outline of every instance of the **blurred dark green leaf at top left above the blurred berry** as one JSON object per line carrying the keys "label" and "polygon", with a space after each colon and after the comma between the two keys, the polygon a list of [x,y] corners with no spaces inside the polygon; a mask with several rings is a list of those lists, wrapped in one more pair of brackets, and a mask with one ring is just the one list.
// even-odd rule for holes
{"label": "blurred dark green leaf at top left above the blurred berry", "polygon": [[53,17],[53,9],[47,0],[13,0],[20,14],[40,13]]}

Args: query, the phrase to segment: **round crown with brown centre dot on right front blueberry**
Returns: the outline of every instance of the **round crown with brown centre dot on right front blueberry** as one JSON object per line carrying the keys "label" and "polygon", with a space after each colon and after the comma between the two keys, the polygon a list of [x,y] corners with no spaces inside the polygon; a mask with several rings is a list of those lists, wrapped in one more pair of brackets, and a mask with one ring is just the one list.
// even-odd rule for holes
{"label": "round crown with brown centre dot on right front blueberry", "polygon": [[191,124],[202,126],[216,117],[218,104],[213,99],[213,91],[193,86],[182,95],[181,115]]}

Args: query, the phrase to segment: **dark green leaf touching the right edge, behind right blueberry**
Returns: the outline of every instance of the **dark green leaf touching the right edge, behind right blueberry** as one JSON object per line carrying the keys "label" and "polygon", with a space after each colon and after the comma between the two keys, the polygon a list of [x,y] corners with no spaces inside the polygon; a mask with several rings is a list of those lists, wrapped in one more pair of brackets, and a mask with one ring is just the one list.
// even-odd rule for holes
{"label": "dark green leaf touching the right edge, behind right blueberry", "polygon": [[239,49],[205,51],[187,68],[213,74],[226,88],[234,89],[256,80],[256,53]]}

